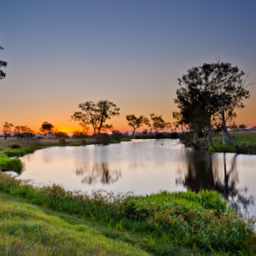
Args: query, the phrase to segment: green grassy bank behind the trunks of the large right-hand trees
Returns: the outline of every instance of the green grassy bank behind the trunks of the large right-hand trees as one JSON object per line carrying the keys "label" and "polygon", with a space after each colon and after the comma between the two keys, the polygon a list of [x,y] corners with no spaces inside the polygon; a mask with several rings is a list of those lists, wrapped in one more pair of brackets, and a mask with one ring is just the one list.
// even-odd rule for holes
{"label": "green grassy bank behind the trunks of the large right-hand trees", "polygon": [[[256,154],[256,134],[233,134],[232,137],[236,140],[243,154]],[[202,140],[201,143],[203,143]],[[212,143],[214,147],[209,147],[209,151],[236,153],[236,148],[227,137],[225,146],[222,144],[222,137],[220,136],[212,137]]]}

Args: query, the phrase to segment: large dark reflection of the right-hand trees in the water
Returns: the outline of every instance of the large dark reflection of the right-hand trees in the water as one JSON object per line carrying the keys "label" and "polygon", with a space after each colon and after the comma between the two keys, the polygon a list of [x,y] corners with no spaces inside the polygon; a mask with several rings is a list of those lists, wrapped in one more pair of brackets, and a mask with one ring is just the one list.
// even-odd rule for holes
{"label": "large dark reflection of the right-hand trees in the water", "polygon": [[236,170],[237,154],[232,157],[230,168],[227,168],[225,153],[223,157],[222,168],[218,165],[217,154],[188,151],[185,156],[186,168],[183,171],[185,175],[176,182],[195,192],[200,189],[217,190],[237,212],[247,213],[247,207],[253,205],[254,199],[252,195],[247,195],[247,187],[237,188],[239,182]]}

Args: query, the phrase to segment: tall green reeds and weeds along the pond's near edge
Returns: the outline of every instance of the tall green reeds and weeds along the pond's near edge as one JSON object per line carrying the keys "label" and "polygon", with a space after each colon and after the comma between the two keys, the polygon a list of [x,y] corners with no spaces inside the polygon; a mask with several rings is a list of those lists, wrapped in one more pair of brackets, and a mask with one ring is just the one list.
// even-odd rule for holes
{"label": "tall green reeds and weeds along the pond's near edge", "polygon": [[56,185],[36,189],[4,174],[0,189],[57,212],[140,234],[151,253],[170,255],[177,246],[205,253],[256,253],[253,222],[239,217],[217,192],[84,195]]}

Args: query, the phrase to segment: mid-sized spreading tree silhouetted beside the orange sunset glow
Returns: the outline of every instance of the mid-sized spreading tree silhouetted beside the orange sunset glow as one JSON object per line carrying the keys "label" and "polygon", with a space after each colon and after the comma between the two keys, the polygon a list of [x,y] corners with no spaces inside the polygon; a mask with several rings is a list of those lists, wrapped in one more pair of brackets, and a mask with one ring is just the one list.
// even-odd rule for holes
{"label": "mid-sized spreading tree silhouetted beside the orange sunset glow", "polygon": [[88,131],[91,126],[94,135],[100,134],[101,131],[112,128],[112,125],[107,124],[108,119],[119,115],[119,108],[113,102],[84,102],[79,104],[79,111],[73,113],[71,118],[79,121],[79,125]]}

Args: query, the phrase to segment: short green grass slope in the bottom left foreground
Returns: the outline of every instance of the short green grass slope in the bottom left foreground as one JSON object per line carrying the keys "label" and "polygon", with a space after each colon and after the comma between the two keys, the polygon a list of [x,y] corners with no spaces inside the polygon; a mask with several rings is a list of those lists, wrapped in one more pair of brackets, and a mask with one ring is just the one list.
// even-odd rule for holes
{"label": "short green grass slope in the bottom left foreground", "polygon": [[0,193],[1,255],[148,255],[108,238],[79,218],[45,211]]}

